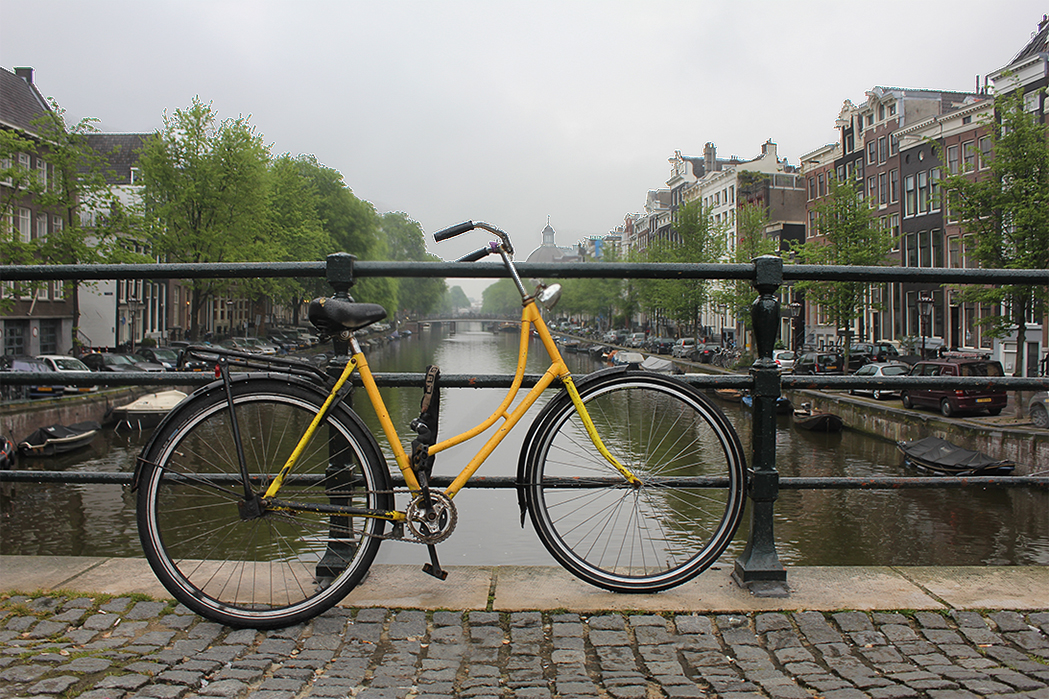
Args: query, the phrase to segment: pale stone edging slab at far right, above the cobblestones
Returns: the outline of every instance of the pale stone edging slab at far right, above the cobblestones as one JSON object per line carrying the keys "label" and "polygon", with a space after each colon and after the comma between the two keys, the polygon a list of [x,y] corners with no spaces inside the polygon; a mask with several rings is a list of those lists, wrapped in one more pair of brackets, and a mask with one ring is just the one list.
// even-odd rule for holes
{"label": "pale stone edging slab at far right, above the cobblestones", "polygon": [[1049,567],[900,569],[955,609],[1049,609]]}

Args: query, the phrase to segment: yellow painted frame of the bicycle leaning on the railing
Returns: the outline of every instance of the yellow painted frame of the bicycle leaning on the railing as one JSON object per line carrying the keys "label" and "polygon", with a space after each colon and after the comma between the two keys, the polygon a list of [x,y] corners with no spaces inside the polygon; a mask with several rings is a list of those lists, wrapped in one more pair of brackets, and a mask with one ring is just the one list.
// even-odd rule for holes
{"label": "yellow painted frame of the bicycle leaning on the railing", "polygon": [[[428,453],[430,456],[437,454],[450,447],[456,446],[464,442],[467,442],[478,435],[488,430],[492,425],[502,419],[504,424],[492,435],[491,438],[480,447],[476,454],[467,463],[467,465],[459,471],[458,475],[454,481],[445,489],[445,494],[452,499],[456,493],[462,490],[466,484],[470,481],[474,473],[480,468],[481,464],[488,459],[488,457],[495,450],[495,447],[502,442],[502,439],[514,428],[514,426],[520,421],[532,405],[539,399],[539,396],[550,387],[550,385],[557,379],[560,379],[569,391],[572,402],[575,404],[576,409],[579,411],[582,418],[583,424],[586,427],[586,432],[591,438],[595,448],[598,452],[604,457],[605,460],[612,464],[616,470],[618,470],[623,479],[631,485],[640,485],[640,480],[631,473],[625,466],[619,463],[619,461],[612,456],[608,449],[601,442],[601,438],[597,432],[597,428],[594,426],[593,420],[591,420],[590,414],[586,411],[586,406],[579,396],[579,391],[576,389],[575,382],[572,379],[572,374],[569,367],[564,363],[564,359],[561,357],[560,351],[557,348],[557,344],[554,342],[553,336],[550,334],[550,330],[547,327],[545,322],[542,320],[542,316],[539,314],[539,310],[536,306],[535,299],[532,297],[524,298],[523,309],[521,311],[521,333],[520,333],[520,346],[517,353],[517,368],[514,373],[514,380],[507,393],[506,398],[504,398],[502,403],[495,409],[495,411],[485,420],[479,425],[469,429],[465,432],[456,435],[450,439],[438,442],[429,447]],[[529,348],[529,338],[531,335],[531,329],[535,327],[536,333],[539,335],[542,341],[543,347],[547,350],[547,354],[550,356],[551,364],[547,368],[547,372],[539,379],[539,382],[532,387],[531,390],[526,394],[521,399],[520,403],[512,411],[508,412],[511,404],[519,393],[522,380],[524,378],[524,366],[528,361],[528,348]],[[419,483],[419,479],[415,476],[414,471],[411,468],[411,464],[408,460],[408,456],[404,450],[403,443],[401,442],[401,437],[393,426],[393,422],[390,419],[389,412],[386,409],[386,404],[383,402],[382,396],[379,393],[379,387],[376,385],[374,377],[371,374],[371,369],[368,366],[367,358],[364,356],[360,344],[357,339],[350,338],[350,357],[346,362],[346,366],[343,368],[342,375],[336,381],[336,384],[331,387],[328,394],[327,400],[322,405],[321,409],[318,411],[317,416],[314,418],[313,422],[307,427],[306,431],[303,433],[302,438],[299,440],[298,445],[293,450],[292,456],[288,458],[287,462],[281,468],[280,472],[270,484],[265,493],[262,497],[266,500],[273,500],[277,492],[280,490],[283,484],[284,478],[291,472],[299,456],[305,450],[306,445],[313,438],[317,428],[324,419],[325,414],[329,406],[335,402],[336,396],[339,390],[349,380],[352,373],[356,370],[361,376],[361,382],[364,385],[364,389],[368,395],[368,400],[371,402],[371,406],[376,411],[376,416],[379,419],[379,423],[383,428],[383,433],[386,436],[387,441],[390,444],[390,448],[393,450],[393,457],[397,461],[398,467],[401,473],[404,475],[405,483],[411,493],[420,492],[422,486]],[[377,516],[384,520],[390,521],[403,521],[405,515],[403,512],[377,512],[371,510],[361,510],[358,508],[346,508],[346,511],[355,514],[362,514],[365,516]]]}

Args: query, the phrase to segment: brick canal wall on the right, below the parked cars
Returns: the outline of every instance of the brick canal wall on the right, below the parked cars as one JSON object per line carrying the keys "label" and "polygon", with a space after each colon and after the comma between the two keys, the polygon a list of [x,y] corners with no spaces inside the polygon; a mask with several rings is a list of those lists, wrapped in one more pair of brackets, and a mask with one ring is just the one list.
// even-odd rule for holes
{"label": "brick canal wall on the right, below the parked cars", "polygon": [[1016,475],[1030,475],[1049,468],[1049,431],[1029,426],[998,425],[987,418],[942,418],[938,412],[896,407],[848,395],[818,390],[785,390],[794,405],[811,403],[814,410],[833,412],[855,429],[893,442],[939,437],[966,449],[983,451],[994,459],[1016,462]]}

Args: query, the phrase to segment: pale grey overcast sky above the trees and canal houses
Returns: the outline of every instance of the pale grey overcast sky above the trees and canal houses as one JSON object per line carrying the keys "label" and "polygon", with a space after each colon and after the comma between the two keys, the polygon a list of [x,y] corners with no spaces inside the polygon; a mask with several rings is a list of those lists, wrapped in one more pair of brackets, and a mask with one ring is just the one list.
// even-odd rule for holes
{"label": "pale grey overcast sky above the trees and canal houses", "polygon": [[[675,150],[797,165],[875,85],[972,90],[1045,0],[0,0],[0,65],[70,120],[150,132],[195,96],[312,153],[379,211],[526,256],[601,235]],[[480,239],[430,242],[446,258]],[[352,251],[349,251],[352,252]],[[468,290],[473,294],[473,290]]]}

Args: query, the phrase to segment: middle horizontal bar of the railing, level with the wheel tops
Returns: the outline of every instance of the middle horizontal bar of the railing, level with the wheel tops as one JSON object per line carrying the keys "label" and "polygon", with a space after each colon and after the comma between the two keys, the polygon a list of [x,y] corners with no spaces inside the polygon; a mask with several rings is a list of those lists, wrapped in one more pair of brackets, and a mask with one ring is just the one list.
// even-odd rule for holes
{"label": "middle horizontal bar of the railing, level with the wheel tops", "polygon": [[[258,372],[265,374],[266,372]],[[425,379],[420,373],[380,372],[373,375],[382,387],[422,386]],[[178,386],[202,385],[214,381],[210,372],[63,372],[40,374],[35,372],[5,372],[0,375],[9,385],[71,385],[71,386]],[[526,374],[523,385],[534,386],[542,378],[539,374]],[[749,374],[679,374],[678,379],[699,388],[750,388],[754,380]],[[360,377],[352,378],[360,385]],[[1000,388],[1002,390],[1046,390],[1049,377],[858,377],[858,376],[795,376],[780,377],[784,388],[853,388],[857,386],[884,388]],[[513,383],[510,374],[448,374],[442,375],[441,385],[450,388],[507,388]]]}

